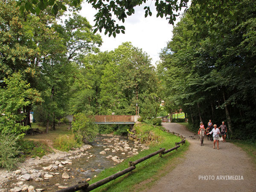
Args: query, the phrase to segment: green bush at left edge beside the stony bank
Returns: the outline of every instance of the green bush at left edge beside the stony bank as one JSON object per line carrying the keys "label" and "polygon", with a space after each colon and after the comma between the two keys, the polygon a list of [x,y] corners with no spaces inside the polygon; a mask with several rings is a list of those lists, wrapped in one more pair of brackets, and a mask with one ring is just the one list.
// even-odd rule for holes
{"label": "green bush at left edge beside the stony bank", "polygon": [[18,137],[13,134],[1,134],[0,137],[0,167],[8,170],[15,169],[20,153],[17,145]]}

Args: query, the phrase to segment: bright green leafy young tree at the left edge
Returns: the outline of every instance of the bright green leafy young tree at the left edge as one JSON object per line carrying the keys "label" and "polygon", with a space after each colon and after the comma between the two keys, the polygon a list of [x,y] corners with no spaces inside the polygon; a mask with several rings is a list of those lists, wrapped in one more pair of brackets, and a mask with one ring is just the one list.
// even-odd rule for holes
{"label": "bright green leafy young tree at the left edge", "polygon": [[22,79],[20,73],[13,73],[3,82],[6,86],[0,87],[0,131],[2,134],[21,135],[29,127],[22,126],[26,113],[21,113],[20,108],[32,102],[41,102],[40,94],[29,88],[30,85]]}

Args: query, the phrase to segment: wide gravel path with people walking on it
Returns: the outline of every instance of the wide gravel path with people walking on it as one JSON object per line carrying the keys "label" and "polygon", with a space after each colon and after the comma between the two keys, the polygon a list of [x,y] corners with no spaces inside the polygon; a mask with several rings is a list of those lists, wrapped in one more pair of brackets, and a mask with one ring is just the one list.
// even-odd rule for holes
{"label": "wide gravel path with people walking on it", "polygon": [[[185,126],[163,123],[163,127],[184,135],[190,143],[189,150],[183,163],[160,178],[153,188],[145,191],[256,191],[255,167],[250,157],[236,145],[220,142],[220,149],[217,150],[216,146],[213,149],[213,142],[205,137],[204,146],[200,146],[198,135],[188,131]],[[240,176],[240,180],[229,180],[228,177],[221,180],[222,175],[233,176],[233,179],[236,179],[237,175]],[[203,180],[203,176],[208,176],[208,180],[207,177]]]}

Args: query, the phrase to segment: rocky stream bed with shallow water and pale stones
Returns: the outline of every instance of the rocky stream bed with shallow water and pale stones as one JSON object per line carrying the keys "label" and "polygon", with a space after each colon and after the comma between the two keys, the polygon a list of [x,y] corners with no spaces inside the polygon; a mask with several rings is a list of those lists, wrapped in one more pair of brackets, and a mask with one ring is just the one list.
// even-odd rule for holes
{"label": "rocky stream bed with shallow water and pale stones", "polygon": [[0,170],[0,192],[57,191],[97,177],[144,149],[148,147],[127,137],[100,135],[90,145],[27,159],[12,172]]}

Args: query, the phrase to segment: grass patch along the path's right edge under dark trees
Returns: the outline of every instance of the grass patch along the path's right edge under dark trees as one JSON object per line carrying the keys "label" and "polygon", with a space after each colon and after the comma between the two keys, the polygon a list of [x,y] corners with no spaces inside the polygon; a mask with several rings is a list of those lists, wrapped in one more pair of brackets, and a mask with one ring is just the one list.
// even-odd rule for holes
{"label": "grass patch along the path's right edge under dark trees", "polygon": [[244,150],[251,158],[256,166],[256,145],[253,143],[247,143],[245,141],[239,141],[239,140],[229,140],[236,146],[240,147],[242,150]]}

